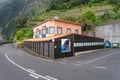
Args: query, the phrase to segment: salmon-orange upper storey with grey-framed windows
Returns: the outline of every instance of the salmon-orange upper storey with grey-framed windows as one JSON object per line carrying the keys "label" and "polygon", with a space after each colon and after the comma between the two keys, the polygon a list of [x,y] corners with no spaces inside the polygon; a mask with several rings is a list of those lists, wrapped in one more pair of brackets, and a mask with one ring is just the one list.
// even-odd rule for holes
{"label": "salmon-orange upper storey with grey-framed windows", "polygon": [[72,33],[82,34],[82,27],[80,26],[80,24],[76,24],[73,22],[58,19],[48,19],[36,25],[33,31],[33,38],[43,38]]}

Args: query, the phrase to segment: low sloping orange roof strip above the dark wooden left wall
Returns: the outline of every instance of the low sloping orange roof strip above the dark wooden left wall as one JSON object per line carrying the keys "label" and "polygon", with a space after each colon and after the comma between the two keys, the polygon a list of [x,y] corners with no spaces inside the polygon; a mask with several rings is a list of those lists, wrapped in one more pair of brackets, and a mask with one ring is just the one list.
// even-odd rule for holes
{"label": "low sloping orange roof strip above the dark wooden left wall", "polygon": [[[69,35],[71,35],[71,34],[69,34]],[[25,41],[34,41],[34,42],[38,42],[38,41],[50,41],[52,39],[57,39],[57,38],[61,38],[61,37],[64,37],[64,36],[68,36],[68,34],[67,35],[52,36],[52,37],[45,37],[45,38],[27,39]]]}

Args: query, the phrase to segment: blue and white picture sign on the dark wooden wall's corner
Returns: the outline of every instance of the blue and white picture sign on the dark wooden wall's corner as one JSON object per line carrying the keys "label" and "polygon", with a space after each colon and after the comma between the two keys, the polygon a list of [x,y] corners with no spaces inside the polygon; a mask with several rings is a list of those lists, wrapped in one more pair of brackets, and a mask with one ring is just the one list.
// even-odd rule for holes
{"label": "blue and white picture sign on the dark wooden wall's corner", "polygon": [[71,40],[70,39],[61,39],[61,51],[71,52]]}

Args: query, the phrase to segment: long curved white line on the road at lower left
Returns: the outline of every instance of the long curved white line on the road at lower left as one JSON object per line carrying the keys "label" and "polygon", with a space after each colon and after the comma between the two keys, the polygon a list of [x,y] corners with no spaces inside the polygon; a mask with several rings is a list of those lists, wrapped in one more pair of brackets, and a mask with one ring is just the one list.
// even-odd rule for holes
{"label": "long curved white line on the road at lower left", "polygon": [[10,61],[12,64],[14,64],[15,66],[19,67],[20,69],[22,69],[22,70],[24,70],[24,71],[26,71],[26,72],[29,72],[29,73],[31,73],[31,74],[34,75],[34,76],[43,78],[43,79],[45,79],[45,80],[51,80],[51,79],[49,79],[49,78],[47,78],[47,77],[45,77],[45,76],[42,76],[42,75],[37,74],[37,73],[34,73],[34,72],[32,72],[32,71],[30,71],[30,70],[28,70],[28,69],[26,69],[26,68],[24,68],[24,67],[16,64],[14,61],[12,61],[12,60],[8,57],[7,53],[5,53],[5,57],[8,59],[8,61]]}

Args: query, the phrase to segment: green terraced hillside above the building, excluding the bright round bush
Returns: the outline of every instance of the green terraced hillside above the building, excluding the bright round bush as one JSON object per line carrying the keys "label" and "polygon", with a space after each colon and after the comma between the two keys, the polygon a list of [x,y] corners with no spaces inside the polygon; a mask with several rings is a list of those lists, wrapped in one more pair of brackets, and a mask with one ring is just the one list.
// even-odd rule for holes
{"label": "green terraced hillside above the building, excluding the bright round bush", "polygon": [[[86,11],[91,11],[95,15],[96,22],[90,22],[94,26],[110,24],[120,18],[120,1],[118,0],[54,0],[50,6],[50,10],[33,17],[25,25],[32,27],[45,19],[51,19],[56,16],[59,19],[81,24],[83,21],[80,22],[80,17]],[[83,26],[85,25],[87,24]]]}

